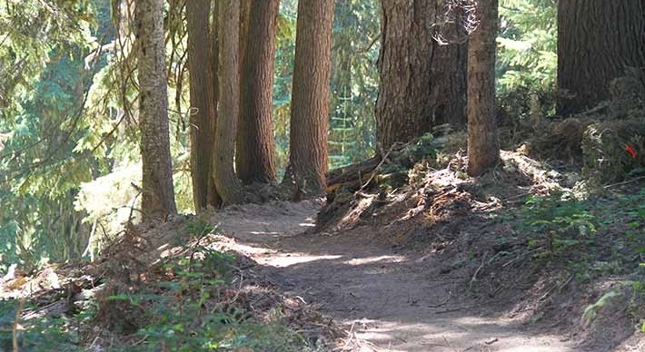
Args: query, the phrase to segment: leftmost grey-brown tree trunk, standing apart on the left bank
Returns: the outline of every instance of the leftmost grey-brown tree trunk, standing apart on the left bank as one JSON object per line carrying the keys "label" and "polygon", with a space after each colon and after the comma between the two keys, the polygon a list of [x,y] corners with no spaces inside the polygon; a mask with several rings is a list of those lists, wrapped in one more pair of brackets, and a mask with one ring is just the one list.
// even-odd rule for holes
{"label": "leftmost grey-brown tree trunk, standing apart on the left bank", "polygon": [[149,219],[177,212],[168,129],[163,10],[163,0],[137,0],[134,10],[139,44],[142,210]]}

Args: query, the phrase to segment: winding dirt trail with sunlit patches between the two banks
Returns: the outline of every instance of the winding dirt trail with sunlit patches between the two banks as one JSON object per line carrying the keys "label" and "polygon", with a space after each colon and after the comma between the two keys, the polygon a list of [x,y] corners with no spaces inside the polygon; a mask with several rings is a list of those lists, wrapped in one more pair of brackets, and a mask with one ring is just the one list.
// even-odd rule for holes
{"label": "winding dirt trail with sunlit patches between the two banks", "polygon": [[[262,265],[277,286],[321,305],[381,351],[578,350],[566,338],[542,335],[482,314],[452,294],[460,280],[438,273],[432,257],[398,252],[372,240],[369,229],[311,233],[320,204],[274,202],[220,212],[238,249]],[[438,279],[441,278],[441,279]]]}

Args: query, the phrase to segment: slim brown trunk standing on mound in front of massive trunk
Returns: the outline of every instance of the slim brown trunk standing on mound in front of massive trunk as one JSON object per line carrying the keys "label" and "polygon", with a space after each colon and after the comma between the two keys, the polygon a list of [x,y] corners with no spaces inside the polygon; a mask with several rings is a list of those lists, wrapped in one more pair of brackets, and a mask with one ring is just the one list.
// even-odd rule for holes
{"label": "slim brown trunk standing on mound in front of massive trunk", "polygon": [[468,48],[468,174],[479,176],[500,160],[495,118],[498,0],[479,0],[479,25]]}

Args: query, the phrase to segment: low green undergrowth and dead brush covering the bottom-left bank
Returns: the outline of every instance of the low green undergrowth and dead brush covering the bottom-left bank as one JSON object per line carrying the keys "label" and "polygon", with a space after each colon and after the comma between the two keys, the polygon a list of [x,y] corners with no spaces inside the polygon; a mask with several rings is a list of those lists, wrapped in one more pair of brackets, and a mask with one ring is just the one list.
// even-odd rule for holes
{"label": "low green undergrowth and dead brush covering the bottom-left bank", "polygon": [[[97,295],[42,304],[0,301],[0,351],[316,351],[285,321],[283,306],[256,311],[243,289],[242,260],[210,248],[213,228],[189,222],[196,245],[147,269],[109,260]],[[126,234],[127,236],[127,234]],[[133,254],[134,249],[129,254]],[[135,260],[132,259],[131,260]],[[124,269],[126,271],[124,271]],[[76,296],[74,296],[76,295]],[[49,307],[61,305],[60,308]],[[301,309],[302,310],[302,309]]]}

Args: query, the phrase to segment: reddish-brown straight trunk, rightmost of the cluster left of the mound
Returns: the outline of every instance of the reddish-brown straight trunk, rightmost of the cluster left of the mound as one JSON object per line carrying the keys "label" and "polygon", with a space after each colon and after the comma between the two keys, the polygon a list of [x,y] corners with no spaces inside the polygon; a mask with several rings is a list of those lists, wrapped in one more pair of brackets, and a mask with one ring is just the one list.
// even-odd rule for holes
{"label": "reddish-brown straight trunk, rightmost of the cluster left of the mound", "polygon": [[325,193],[333,0],[300,0],[296,23],[289,164],[294,200]]}

